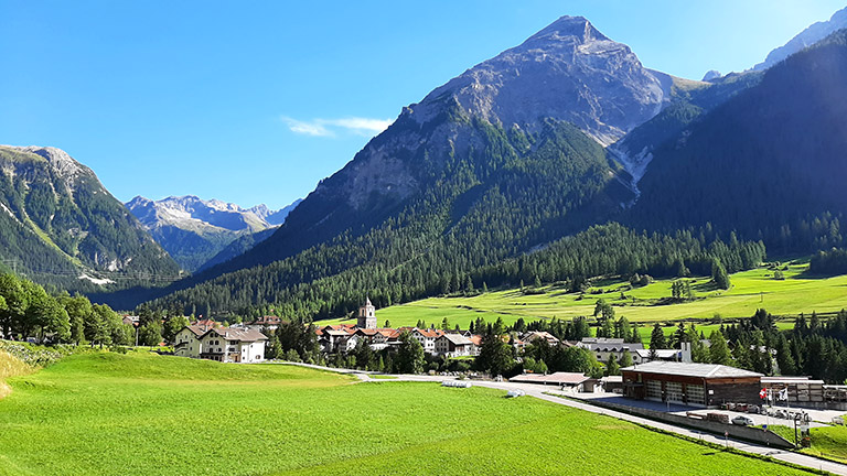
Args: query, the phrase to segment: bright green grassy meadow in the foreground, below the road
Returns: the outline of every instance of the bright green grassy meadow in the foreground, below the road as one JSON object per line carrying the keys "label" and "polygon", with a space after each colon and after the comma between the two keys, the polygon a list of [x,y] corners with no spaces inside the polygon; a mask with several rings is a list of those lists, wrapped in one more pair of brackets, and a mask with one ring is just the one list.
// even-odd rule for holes
{"label": "bright green grassy meadow in the foreground, below the road", "polygon": [[502,391],[84,354],[9,379],[0,474],[738,474],[797,469]]}

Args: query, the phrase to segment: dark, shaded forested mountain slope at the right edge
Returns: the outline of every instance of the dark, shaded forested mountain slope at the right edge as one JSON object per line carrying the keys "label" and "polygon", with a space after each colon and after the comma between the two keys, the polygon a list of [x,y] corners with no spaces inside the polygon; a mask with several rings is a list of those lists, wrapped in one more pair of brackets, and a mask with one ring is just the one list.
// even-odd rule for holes
{"label": "dark, shaded forested mountain slope at the right edge", "polygon": [[658,148],[633,219],[661,229],[710,221],[778,251],[837,245],[847,213],[845,117],[843,30]]}

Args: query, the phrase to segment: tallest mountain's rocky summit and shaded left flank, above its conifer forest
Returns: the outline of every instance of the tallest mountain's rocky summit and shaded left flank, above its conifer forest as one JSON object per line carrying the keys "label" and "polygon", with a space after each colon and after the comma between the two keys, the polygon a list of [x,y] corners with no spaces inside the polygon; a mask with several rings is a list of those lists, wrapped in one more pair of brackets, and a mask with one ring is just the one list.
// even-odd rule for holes
{"label": "tallest mountain's rocky summit and shaded left flank, above its conifer forest", "polygon": [[[268,264],[343,232],[361,235],[378,226],[437,186],[449,164],[492,161],[489,131],[479,130],[480,123],[529,140],[549,118],[573,123],[602,144],[657,113],[669,101],[668,87],[628,46],[583,18],[564,17],[404,108],[394,125],[322,181],[277,234],[201,279]],[[518,152],[527,147],[517,145]]]}

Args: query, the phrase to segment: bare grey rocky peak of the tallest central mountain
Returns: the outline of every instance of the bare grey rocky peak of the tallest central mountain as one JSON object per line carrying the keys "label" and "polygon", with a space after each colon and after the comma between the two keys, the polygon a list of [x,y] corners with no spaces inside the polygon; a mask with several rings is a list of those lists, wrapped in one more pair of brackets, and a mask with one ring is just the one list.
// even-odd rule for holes
{"label": "bare grey rocky peak of the tallest central mountain", "polygon": [[526,131],[540,119],[571,122],[603,145],[655,116],[668,93],[629,46],[581,17],[562,17],[524,43],[436,88],[405,109],[419,123],[446,105]]}

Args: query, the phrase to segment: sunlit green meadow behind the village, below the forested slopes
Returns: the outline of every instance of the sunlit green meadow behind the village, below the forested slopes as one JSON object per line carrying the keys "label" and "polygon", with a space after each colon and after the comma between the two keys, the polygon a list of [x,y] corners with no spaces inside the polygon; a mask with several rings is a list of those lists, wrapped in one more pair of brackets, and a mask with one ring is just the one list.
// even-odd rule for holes
{"label": "sunlit green meadow behind the village, below the forested slopes", "polygon": [[[418,321],[441,324],[448,318],[451,326],[467,328],[471,321],[483,317],[495,321],[502,317],[507,324],[523,317],[571,318],[593,315],[597,300],[602,298],[614,306],[618,316],[632,322],[654,323],[679,320],[710,320],[715,314],[726,318],[750,317],[757,309],[764,307],[775,315],[794,316],[836,312],[847,309],[847,275],[810,278],[803,273],[806,264],[791,266],[782,281],[772,278],[772,271],[759,268],[731,275],[732,288],[715,290],[708,278],[695,278],[691,288],[697,299],[691,302],[656,305],[657,300],[671,296],[672,280],[660,280],[643,288],[624,291],[629,283],[607,281],[593,288],[598,293],[568,293],[566,290],[544,288],[543,294],[524,294],[519,290],[490,292],[472,298],[432,298],[378,310],[379,325],[389,321],[392,326],[414,326]],[[355,322],[322,321],[323,323]],[[791,326],[792,322],[784,322]],[[708,336],[708,333],[706,333]]]}

